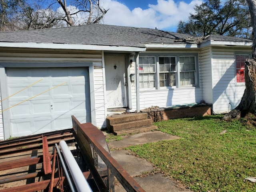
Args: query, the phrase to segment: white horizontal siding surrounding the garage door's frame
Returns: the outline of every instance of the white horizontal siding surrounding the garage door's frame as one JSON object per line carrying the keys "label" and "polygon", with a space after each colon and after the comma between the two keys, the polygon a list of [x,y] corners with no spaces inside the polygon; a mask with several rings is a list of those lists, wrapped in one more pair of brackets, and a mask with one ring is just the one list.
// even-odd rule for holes
{"label": "white horizontal siding surrounding the garage door's frame", "polygon": [[[32,53],[33,50],[28,52],[20,52],[19,50],[0,50],[0,62],[93,62],[94,64],[94,93],[95,93],[95,115],[96,125],[101,128],[105,126],[105,108],[104,108],[104,88],[103,88],[103,72],[102,72],[102,54],[101,51],[86,51],[74,53],[60,52],[56,50],[53,53],[44,52],[44,50],[38,51],[38,53]],[[1,82],[0,82],[1,83]],[[0,93],[1,96],[1,93]],[[1,100],[1,97],[0,97]],[[2,110],[0,102],[0,110]],[[4,138],[3,133],[3,118],[0,113],[0,140]]]}

